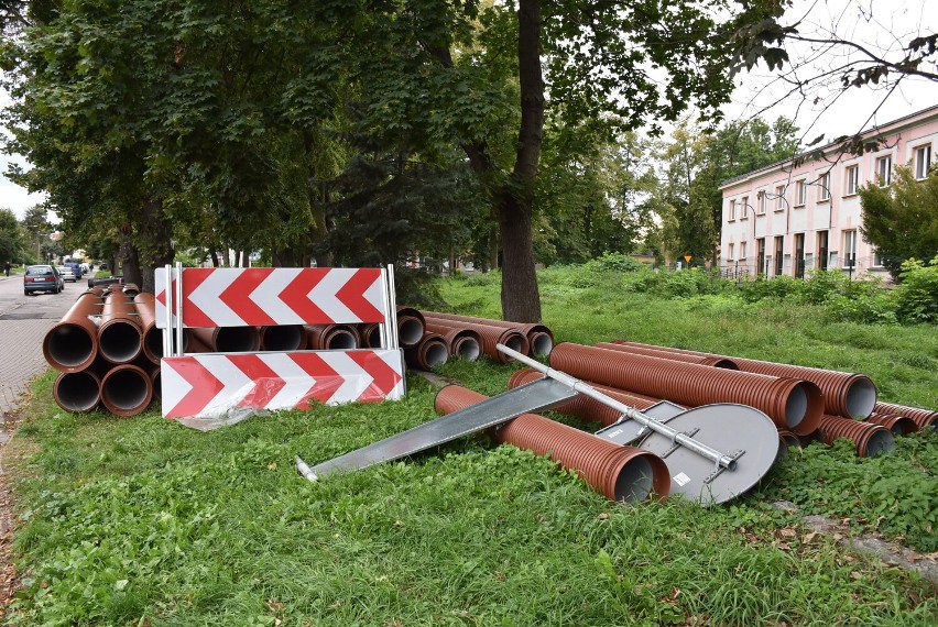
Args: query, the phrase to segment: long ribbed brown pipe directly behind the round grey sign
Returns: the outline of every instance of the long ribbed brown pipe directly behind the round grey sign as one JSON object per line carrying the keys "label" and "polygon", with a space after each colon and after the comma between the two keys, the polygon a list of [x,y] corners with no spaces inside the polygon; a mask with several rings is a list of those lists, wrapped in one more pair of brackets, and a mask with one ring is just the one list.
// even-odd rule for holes
{"label": "long ribbed brown pipe directly behind the round grey sign", "polygon": [[550,365],[577,378],[667,398],[685,406],[715,403],[749,405],[765,413],[776,427],[798,435],[817,428],[824,408],[820,391],[809,382],[569,342],[554,348]]}

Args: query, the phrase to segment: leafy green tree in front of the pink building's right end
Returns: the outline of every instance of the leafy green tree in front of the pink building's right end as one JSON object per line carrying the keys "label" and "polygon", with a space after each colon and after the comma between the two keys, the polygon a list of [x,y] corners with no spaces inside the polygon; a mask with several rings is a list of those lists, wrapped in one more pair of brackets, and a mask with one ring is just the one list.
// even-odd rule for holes
{"label": "leafy green tree in front of the pink building's right end", "polygon": [[894,278],[904,261],[938,255],[938,167],[924,180],[909,167],[896,167],[888,187],[870,182],[860,188],[860,207],[863,239],[876,246]]}

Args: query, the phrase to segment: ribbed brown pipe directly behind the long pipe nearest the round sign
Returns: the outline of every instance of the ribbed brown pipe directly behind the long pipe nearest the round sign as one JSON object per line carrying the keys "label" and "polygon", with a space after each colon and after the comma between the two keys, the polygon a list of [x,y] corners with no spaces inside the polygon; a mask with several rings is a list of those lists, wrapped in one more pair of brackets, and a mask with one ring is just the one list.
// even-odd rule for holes
{"label": "ribbed brown pipe directly behind the long pipe nearest the round sign", "polygon": [[816,367],[779,364],[762,360],[750,360],[727,355],[713,355],[698,351],[686,351],[683,349],[669,349],[667,346],[652,346],[651,344],[639,344],[626,340],[613,340],[612,343],[620,345],[651,346],[668,352],[681,354],[707,355],[711,358],[724,358],[733,360],[742,372],[767,374],[771,376],[784,376],[810,381],[816,384],[824,394],[824,410],[832,416],[846,418],[865,418],[873,411],[876,404],[876,386],[865,374],[838,372]]}

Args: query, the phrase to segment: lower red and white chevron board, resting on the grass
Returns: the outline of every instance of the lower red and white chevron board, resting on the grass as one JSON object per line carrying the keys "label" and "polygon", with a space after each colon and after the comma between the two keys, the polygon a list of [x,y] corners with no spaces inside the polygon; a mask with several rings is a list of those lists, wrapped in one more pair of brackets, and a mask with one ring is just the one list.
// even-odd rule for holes
{"label": "lower red and white chevron board, resting on the grass", "polygon": [[215,418],[232,409],[309,409],[404,396],[400,350],[200,353],[164,358],[163,416]]}

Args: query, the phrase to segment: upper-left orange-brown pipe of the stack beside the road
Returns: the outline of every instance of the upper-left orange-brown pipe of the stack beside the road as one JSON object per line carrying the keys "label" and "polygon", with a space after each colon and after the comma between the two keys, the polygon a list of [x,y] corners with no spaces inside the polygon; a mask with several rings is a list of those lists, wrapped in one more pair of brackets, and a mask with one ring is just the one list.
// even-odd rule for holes
{"label": "upper-left orange-brown pipe of the stack beside the road", "polygon": [[42,353],[48,365],[58,372],[79,372],[91,365],[98,354],[98,327],[89,316],[99,316],[102,305],[97,293],[86,292],[46,332]]}

